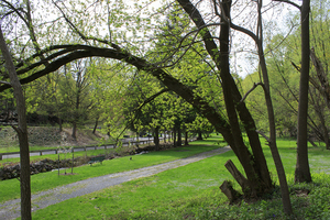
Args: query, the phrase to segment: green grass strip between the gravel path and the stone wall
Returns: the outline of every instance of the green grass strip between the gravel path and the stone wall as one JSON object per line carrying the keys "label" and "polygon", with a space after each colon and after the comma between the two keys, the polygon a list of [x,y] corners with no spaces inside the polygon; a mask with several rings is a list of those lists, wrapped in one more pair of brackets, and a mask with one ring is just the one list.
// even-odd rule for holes
{"label": "green grass strip between the gravel path and the stone wall", "polygon": [[[217,142],[217,141],[216,141]],[[215,143],[216,143],[215,142]],[[129,157],[118,157],[110,161],[103,161],[102,165],[85,165],[75,167],[74,173],[77,175],[58,176],[57,172],[42,173],[31,176],[31,190],[32,194],[51,189],[57,186],[75,183],[78,180],[102,176],[112,173],[136,169],[145,166],[152,166],[169,161],[184,158],[201,152],[211,151],[220,147],[219,144],[200,145],[204,142],[190,143],[190,146],[177,147],[160,152],[151,152],[148,154],[134,155],[133,160]],[[224,144],[222,144],[223,146]],[[105,150],[97,150],[103,152]],[[95,151],[95,153],[97,152]],[[88,151],[87,151],[88,152]],[[82,154],[86,152],[81,152]],[[97,153],[96,153],[97,154]],[[76,155],[76,153],[75,153]],[[45,155],[45,157],[53,157],[57,155]],[[69,158],[69,156],[67,156]],[[67,172],[70,172],[68,169]],[[62,170],[64,173],[64,170]],[[20,185],[18,179],[9,179],[0,182],[0,202],[6,200],[15,199],[20,197]]]}

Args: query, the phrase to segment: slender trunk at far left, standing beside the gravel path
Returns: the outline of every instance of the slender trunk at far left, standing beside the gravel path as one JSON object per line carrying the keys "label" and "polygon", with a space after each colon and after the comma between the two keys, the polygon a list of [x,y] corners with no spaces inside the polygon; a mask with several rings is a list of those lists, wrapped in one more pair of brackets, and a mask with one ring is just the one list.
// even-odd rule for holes
{"label": "slender trunk at far left, standing beside the gravel path", "polygon": [[19,77],[16,75],[10,52],[6,45],[2,30],[0,26],[0,47],[2,56],[6,61],[6,67],[10,77],[10,85],[13,87],[14,97],[16,100],[16,111],[19,117],[19,125],[13,127],[18,132],[20,142],[20,162],[21,162],[21,219],[31,220],[31,179],[30,179],[30,154],[28,141],[28,125],[26,125],[26,109],[25,99],[22,91]]}

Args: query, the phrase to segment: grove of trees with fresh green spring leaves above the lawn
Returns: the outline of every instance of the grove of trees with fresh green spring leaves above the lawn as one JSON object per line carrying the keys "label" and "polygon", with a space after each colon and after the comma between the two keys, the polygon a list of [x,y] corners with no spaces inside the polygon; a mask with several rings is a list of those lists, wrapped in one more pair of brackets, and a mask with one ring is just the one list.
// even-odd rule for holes
{"label": "grove of trees with fresh green spring leaves above the lawn", "polygon": [[[262,135],[286,213],[293,210],[276,138],[297,139],[297,182],[311,182],[307,141],[330,147],[328,0],[0,3],[28,113],[54,117],[59,130],[69,123],[73,138],[79,125],[94,124],[95,132],[101,123],[111,136],[123,128],[151,131],[155,140],[174,131],[180,145],[182,133],[211,128],[243,167],[234,177],[244,197],[260,198],[275,187]],[[0,97],[13,109],[15,82],[2,57]],[[21,146],[26,152],[29,144]],[[31,219],[31,202],[23,201],[22,219]]]}

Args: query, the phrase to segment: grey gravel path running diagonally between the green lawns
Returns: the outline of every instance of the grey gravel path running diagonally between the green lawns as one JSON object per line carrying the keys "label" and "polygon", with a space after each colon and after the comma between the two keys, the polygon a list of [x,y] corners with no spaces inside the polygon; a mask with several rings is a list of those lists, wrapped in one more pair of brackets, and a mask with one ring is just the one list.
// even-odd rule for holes
{"label": "grey gravel path running diagonally between the green lawns", "polygon": [[[57,187],[46,191],[32,195],[32,211],[46,208],[54,204],[90,194],[110,186],[114,186],[135,178],[147,177],[157,173],[184,166],[200,160],[230,151],[229,146],[209,152],[204,152],[187,158],[180,158],[173,162],[158,164],[154,166],[143,167],[134,170],[99,176],[80,182],[76,182],[66,186]],[[20,217],[20,201],[14,199],[0,205],[0,220],[13,219]]]}

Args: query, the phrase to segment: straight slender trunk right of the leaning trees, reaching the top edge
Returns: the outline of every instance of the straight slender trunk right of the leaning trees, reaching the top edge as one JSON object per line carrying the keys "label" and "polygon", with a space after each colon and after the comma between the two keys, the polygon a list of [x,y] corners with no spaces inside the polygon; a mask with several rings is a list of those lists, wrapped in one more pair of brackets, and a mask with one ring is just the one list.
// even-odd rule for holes
{"label": "straight slender trunk right of the leaning trees, reaching the top edge", "polygon": [[308,162],[308,81],[309,81],[309,7],[310,0],[302,0],[301,7],[301,70],[299,85],[298,107],[298,136],[297,136],[297,164],[295,170],[296,183],[310,183],[311,175]]}

